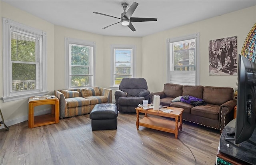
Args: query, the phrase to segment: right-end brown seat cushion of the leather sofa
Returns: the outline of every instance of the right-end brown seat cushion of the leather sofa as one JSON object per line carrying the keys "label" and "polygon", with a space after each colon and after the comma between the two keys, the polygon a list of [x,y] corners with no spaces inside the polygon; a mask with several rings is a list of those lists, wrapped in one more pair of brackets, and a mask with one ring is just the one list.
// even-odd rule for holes
{"label": "right-end brown seat cushion of the leather sofa", "polygon": [[219,119],[219,107],[218,105],[206,104],[199,105],[191,108],[191,114],[206,117],[209,119]]}

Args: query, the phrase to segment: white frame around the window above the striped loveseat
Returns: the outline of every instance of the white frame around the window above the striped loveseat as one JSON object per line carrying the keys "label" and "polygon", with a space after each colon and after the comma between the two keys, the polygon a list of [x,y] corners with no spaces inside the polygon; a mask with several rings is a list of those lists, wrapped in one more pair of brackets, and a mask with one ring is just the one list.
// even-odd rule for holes
{"label": "white frame around the window above the striped loveseat", "polygon": [[[90,62],[91,64],[89,64],[89,67],[92,67],[92,79],[90,82],[90,86],[76,86],[76,87],[72,87],[71,86],[71,82],[70,82],[70,67],[71,67],[71,60],[70,60],[70,44],[75,44],[75,45],[81,45],[81,46],[89,46],[92,47],[92,54],[90,54],[90,59],[92,59]],[[95,59],[96,59],[96,42],[91,42],[91,41],[87,41],[87,40],[80,40],[80,39],[75,39],[75,38],[68,38],[65,37],[65,56],[66,56],[66,60],[65,60],[65,86],[66,89],[78,89],[81,87],[92,87],[94,86],[94,80],[95,80]]]}

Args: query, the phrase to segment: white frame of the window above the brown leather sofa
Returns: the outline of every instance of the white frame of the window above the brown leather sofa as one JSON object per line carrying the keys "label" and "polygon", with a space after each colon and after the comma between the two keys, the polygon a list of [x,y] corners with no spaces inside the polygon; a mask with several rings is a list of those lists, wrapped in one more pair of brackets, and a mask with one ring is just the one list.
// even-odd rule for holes
{"label": "white frame of the window above the brown leather sofa", "polygon": [[[174,42],[182,42],[185,40],[195,39],[195,66],[196,66],[196,82],[195,85],[200,85],[200,33],[194,33],[187,36],[177,37],[177,38],[168,38],[166,40],[167,44],[167,82],[170,83],[170,44]],[[172,55],[173,56],[173,55]]]}

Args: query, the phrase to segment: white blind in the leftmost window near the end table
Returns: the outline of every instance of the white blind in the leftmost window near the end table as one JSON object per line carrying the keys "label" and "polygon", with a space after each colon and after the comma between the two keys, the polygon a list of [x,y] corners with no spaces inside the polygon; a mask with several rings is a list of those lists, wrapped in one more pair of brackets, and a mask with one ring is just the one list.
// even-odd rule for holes
{"label": "white blind in the leftmost window near the end table", "polygon": [[11,28],[11,92],[42,89],[40,38]]}

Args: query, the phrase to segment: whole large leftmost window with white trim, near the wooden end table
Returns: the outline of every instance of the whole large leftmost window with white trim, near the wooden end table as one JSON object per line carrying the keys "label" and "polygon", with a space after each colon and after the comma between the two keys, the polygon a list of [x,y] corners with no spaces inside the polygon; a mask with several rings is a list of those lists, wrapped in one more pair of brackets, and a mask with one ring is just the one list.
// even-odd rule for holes
{"label": "whole large leftmost window with white trim, near the wooden end table", "polygon": [[46,94],[46,32],[3,18],[5,101]]}

